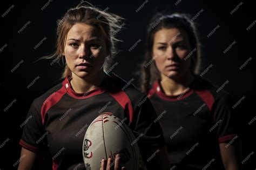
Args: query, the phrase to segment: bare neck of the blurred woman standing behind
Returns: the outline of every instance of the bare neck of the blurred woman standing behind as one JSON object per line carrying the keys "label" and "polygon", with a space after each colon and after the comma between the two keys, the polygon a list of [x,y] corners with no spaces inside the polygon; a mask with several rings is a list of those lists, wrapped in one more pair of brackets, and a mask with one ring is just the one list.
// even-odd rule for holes
{"label": "bare neck of the blurred woman standing behind", "polygon": [[185,76],[177,79],[167,78],[164,74],[161,74],[160,85],[166,95],[177,96],[187,91],[193,79],[194,77],[191,73],[187,73]]}

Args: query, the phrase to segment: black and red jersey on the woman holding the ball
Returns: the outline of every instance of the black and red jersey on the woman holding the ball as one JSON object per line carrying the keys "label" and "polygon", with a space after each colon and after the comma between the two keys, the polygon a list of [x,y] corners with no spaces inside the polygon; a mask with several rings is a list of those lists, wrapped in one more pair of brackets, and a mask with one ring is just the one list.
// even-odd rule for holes
{"label": "black and red jersey on the woman holding the ball", "polygon": [[150,100],[132,84],[111,73],[100,88],[82,94],[72,90],[70,80],[67,77],[33,101],[20,141],[32,152],[49,149],[53,169],[85,169],[84,135],[104,112],[116,115],[139,137],[144,160],[151,156],[145,151],[165,145],[160,125],[153,123],[157,114]]}

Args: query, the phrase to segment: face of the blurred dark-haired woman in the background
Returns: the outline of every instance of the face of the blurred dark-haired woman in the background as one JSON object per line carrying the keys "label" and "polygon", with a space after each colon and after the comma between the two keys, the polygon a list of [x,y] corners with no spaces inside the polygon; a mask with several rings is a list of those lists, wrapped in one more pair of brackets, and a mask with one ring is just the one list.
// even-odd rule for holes
{"label": "face of the blurred dark-haired woman in the background", "polygon": [[152,57],[161,76],[180,78],[190,73],[190,42],[186,31],[161,29],[154,35]]}

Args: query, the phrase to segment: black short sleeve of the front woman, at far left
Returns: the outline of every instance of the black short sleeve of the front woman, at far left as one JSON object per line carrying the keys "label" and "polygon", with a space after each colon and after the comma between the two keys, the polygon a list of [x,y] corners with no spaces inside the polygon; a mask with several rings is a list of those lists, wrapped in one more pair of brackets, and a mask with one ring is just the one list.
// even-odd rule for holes
{"label": "black short sleeve of the front woman, at far left", "polygon": [[37,152],[39,148],[45,145],[47,132],[43,128],[41,114],[35,105],[35,100],[31,104],[21,127],[24,127],[22,138],[19,141],[22,147],[32,152]]}

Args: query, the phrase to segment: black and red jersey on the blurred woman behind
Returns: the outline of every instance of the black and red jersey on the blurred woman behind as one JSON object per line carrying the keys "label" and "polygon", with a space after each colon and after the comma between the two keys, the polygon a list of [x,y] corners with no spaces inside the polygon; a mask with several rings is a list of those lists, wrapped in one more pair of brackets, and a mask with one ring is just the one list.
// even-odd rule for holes
{"label": "black and red jersey on the blurred woman behind", "polygon": [[174,169],[224,169],[219,143],[237,137],[226,92],[196,77],[178,96],[167,96],[158,80],[149,96]]}

